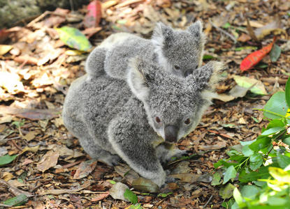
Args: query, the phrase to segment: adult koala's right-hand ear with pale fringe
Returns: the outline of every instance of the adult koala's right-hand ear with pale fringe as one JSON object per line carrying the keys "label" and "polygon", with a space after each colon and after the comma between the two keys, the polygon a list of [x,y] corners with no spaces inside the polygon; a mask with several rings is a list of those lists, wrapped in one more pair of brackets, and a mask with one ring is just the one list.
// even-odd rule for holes
{"label": "adult koala's right-hand ear with pale fringe", "polygon": [[210,61],[201,68],[197,68],[187,77],[187,81],[198,91],[205,89],[213,91],[220,80],[219,72],[223,69],[224,65],[221,62]]}

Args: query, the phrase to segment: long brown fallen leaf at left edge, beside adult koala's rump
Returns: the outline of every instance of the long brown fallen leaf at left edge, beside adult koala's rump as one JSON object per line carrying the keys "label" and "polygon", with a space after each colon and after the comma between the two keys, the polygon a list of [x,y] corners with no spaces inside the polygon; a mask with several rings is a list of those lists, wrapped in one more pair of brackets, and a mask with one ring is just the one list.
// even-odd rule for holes
{"label": "long brown fallen leaf at left edge, beside adult koala's rump", "polygon": [[20,109],[15,107],[0,106],[0,114],[15,115],[19,118],[27,118],[32,121],[57,118],[60,109]]}

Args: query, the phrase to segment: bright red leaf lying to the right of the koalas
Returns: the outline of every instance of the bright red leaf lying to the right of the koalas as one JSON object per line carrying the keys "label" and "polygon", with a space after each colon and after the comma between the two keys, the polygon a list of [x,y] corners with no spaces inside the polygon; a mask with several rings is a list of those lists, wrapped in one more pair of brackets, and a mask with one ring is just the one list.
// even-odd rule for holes
{"label": "bright red leaf lying to the right of the koalas", "polygon": [[249,54],[245,59],[240,63],[240,70],[246,71],[254,67],[261,59],[263,59],[272,49],[275,43],[276,37],[273,38],[273,42],[271,42],[266,47]]}

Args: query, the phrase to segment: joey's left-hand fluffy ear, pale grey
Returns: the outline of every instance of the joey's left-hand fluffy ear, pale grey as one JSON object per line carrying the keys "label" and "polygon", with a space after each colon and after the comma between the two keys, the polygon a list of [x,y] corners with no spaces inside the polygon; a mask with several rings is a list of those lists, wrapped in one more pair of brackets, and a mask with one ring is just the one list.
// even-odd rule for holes
{"label": "joey's left-hand fluffy ear, pale grey", "polygon": [[163,47],[164,45],[170,45],[173,38],[173,29],[170,26],[166,26],[162,22],[158,22],[152,34],[152,42],[154,45]]}

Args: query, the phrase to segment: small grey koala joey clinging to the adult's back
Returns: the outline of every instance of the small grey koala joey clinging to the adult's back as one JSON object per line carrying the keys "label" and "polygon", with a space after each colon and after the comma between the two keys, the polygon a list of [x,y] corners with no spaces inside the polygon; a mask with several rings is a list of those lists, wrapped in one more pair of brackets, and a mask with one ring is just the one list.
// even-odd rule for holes
{"label": "small grey koala joey clinging to the adult's back", "polygon": [[[202,22],[198,20],[184,31],[159,22],[149,40],[130,33],[115,33],[89,54],[85,70],[89,77],[106,72],[111,77],[126,79],[129,60],[142,56],[175,75],[186,77],[202,64],[205,44],[202,30]],[[100,63],[104,68],[99,68]]]}

